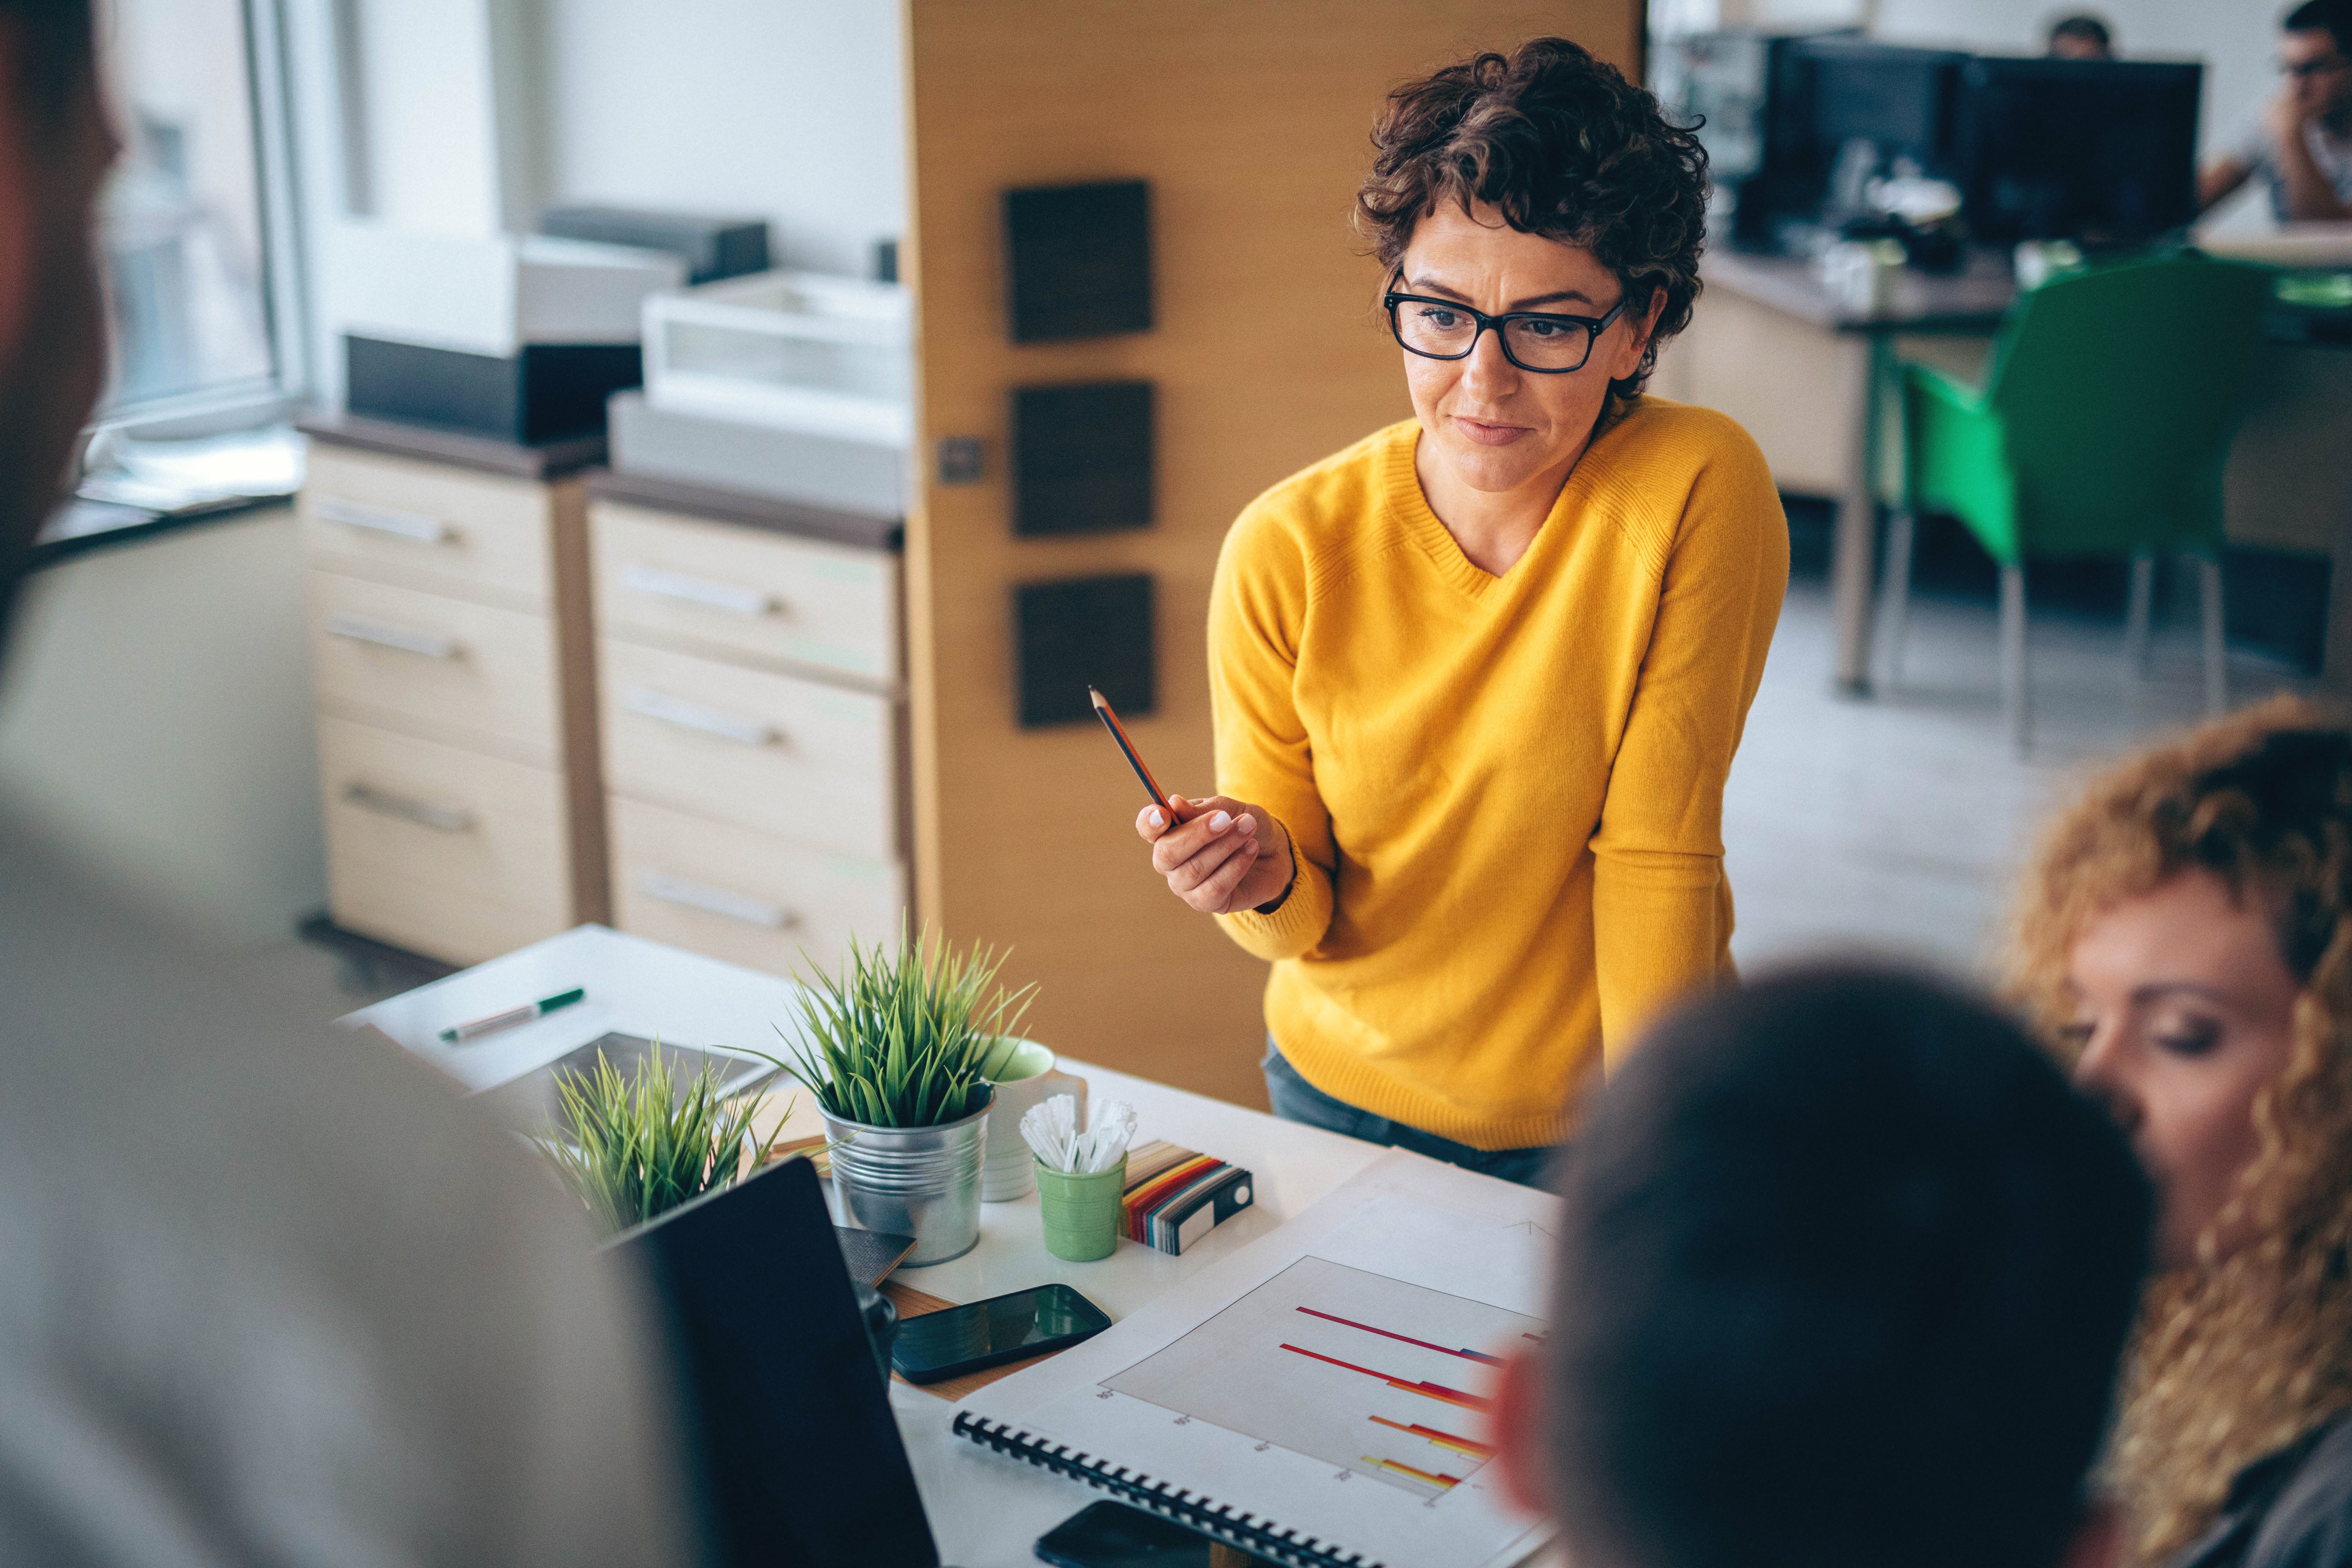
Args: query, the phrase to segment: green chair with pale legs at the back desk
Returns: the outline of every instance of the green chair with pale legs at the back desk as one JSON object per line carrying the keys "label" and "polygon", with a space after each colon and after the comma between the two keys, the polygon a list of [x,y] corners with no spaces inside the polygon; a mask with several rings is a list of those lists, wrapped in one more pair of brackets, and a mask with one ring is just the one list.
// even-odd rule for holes
{"label": "green chair with pale legs at the back desk", "polygon": [[2159,550],[2199,562],[2206,710],[2227,701],[2220,470],[2272,270],[2185,254],[2053,277],[2020,294],[1983,390],[1903,364],[1903,505],[1886,548],[1884,646],[1900,679],[1912,529],[1957,515],[2002,567],[2002,705],[2023,755],[2025,562],[2131,559],[2126,661],[2147,658]]}

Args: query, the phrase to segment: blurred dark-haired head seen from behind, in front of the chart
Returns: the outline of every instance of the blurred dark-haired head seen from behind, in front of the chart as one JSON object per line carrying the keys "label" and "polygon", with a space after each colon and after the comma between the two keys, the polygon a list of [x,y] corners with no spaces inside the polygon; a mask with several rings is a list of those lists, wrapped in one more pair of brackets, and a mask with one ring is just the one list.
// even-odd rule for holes
{"label": "blurred dark-haired head seen from behind, in front of the chart", "polygon": [[2147,1262],[2114,1124],[1987,1004],[1802,969],[1670,1016],[1564,1168],[1503,1488],[1576,1568],[2098,1568]]}

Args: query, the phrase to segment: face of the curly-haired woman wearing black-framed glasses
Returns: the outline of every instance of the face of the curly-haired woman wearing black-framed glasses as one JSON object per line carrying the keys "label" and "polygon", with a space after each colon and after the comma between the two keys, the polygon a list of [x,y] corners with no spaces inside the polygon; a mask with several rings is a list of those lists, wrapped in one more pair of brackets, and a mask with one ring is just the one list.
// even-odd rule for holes
{"label": "face of the curly-haired woman wearing black-framed glasses", "polygon": [[[1592,252],[1524,235],[1486,205],[1477,212],[1442,205],[1423,216],[1399,270],[1399,294],[1458,299],[1486,315],[1602,317],[1618,303],[1618,280]],[[1628,306],[1592,343],[1585,367],[1557,376],[1505,360],[1494,331],[1479,334],[1468,360],[1428,360],[1399,348],[1414,414],[1446,470],[1477,491],[1515,491],[1545,477],[1557,484],[1592,437],[1609,381],[1642,364],[1658,303]]]}

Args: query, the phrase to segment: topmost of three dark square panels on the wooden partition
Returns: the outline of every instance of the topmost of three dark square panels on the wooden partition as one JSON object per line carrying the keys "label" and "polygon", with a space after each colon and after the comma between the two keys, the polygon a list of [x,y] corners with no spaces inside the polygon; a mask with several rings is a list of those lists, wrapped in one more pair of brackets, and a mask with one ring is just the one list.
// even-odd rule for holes
{"label": "topmost of three dark square panels on the wooden partition", "polygon": [[1004,287],[1014,343],[1150,331],[1150,186],[1007,190]]}

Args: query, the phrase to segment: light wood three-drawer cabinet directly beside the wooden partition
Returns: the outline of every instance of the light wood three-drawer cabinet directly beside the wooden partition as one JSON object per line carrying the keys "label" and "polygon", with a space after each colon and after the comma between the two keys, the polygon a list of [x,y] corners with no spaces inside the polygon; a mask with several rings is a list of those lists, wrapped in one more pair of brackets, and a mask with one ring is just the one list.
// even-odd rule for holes
{"label": "light wood three-drawer cabinet directly beside the wooden partition", "polygon": [[588,477],[614,924],[774,973],[908,910],[898,520]]}

